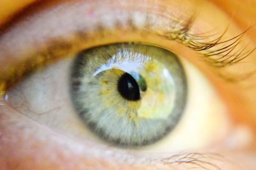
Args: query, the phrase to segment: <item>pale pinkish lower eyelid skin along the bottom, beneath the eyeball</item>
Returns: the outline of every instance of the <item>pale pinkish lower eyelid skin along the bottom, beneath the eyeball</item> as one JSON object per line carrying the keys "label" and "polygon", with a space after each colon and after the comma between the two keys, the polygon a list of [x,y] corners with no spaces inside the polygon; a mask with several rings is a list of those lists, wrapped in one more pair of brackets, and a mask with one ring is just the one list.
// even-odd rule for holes
{"label": "pale pinkish lower eyelid skin along the bottom, beneath the eyeball", "polygon": [[[104,169],[113,169],[116,167],[122,169],[188,169],[190,167],[202,166],[209,169],[239,169],[244,166],[248,166],[248,168],[254,167],[253,164],[255,163],[253,153],[245,152],[223,152],[223,155],[220,155],[221,153],[212,153],[212,151],[200,153],[163,153],[161,155],[146,153],[144,155],[143,153],[120,152],[111,148],[104,148],[103,151],[100,148],[94,148],[95,146],[92,145],[88,145],[90,146],[88,147],[84,145],[83,141],[74,143],[69,138],[60,136],[51,130],[49,131],[49,129],[45,129],[45,127],[31,122],[28,118],[20,116],[19,113],[15,113],[15,111],[12,111],[11,108],[8,108],[4,104],[3,99],[0,102],[1,110],[6,111],[6,113],[1,113],[0,125],[9,124],[9,126],[1,127],[1,146],[4,146],[3,148],[6,154],[12,152],[12,150],[9,150],[10,148],[15,149],[13,146],[19,146],[19,148],[15,149],[16,156],[12,159],[8,158],[8,160],[12,161],[10,162],[11,166],[8,166],[8,168],[11,168],[12,165],[15,165],[20,160],[24,160],[24,163],[19,164],[19,167],[24,169],[31,167],[30,161],[34,162],[33,167],[42,166],[42,162],[44,162],[45,168],[58,166],[63,168],[70,167],[71,169],[81,167],[92,167],[96,169],[99,169],[99,167]],[[10,113],[12,117],[10,117]],[[19,119],[19,121],[16,121],[16,119]],[[31,128],[36,132],[33,133]],[[19,135],[16,136],[16,139],[13,139],[12,135],[15,131],[19,131]],[[38,131],[42,131],[40,132],[41,137],[36,135],[39,134]],[[33,140],[27,141],[28,138],[33,138]],[[60,139],[63,139],[63,141]],[[80,142],[83,144],[81,145]],[[9,145],[12,145],[12,147],[9,147]],[[34,154],[36,161],[29,157],[31,152],[36,153]],[[86,156],[88,153],[90,153],[90,157]],[[2,160],[7,159],[3,156],[0,157]],[[236,160],[239,160],[239,162]],[[28,164],[25,163],[26,161],[28,161]],[[244,162],[246,164],[243,164]]]}

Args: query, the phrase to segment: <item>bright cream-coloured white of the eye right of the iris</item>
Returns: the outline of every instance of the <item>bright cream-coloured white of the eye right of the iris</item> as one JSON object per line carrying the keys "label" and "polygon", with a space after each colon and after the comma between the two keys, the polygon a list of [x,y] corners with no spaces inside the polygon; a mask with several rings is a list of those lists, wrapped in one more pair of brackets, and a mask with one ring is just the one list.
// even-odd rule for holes
{"label": "bright cream-coloured white of the eye right of the iris", "polygon": [[230,122],[224,101],[201,71],[182,60],[188,78],[188,101],[175,129],[159,143],[144,151],[180,152],[211,146],[226,137]]}

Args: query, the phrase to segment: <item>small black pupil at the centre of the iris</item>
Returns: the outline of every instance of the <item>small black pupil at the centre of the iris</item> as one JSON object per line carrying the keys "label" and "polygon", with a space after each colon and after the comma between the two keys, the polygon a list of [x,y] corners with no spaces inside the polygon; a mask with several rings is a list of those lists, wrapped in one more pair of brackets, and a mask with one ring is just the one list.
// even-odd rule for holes
{"label": "small black pupil at the centre of the iris", "polygon": [[118,80],[118,92],[129,101],[140,100],[140,88],[137,81],[129,73],[124,73]]}

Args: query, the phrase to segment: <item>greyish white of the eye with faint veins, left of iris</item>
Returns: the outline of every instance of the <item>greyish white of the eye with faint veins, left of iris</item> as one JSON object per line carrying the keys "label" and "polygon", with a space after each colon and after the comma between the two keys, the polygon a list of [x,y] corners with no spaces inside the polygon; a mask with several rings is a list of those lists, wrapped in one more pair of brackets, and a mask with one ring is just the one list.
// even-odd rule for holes
{"label": "greyish white of the eye with faint veins, left of iris", "polygon": [[8,103],[20,113],[48,125],[65,135],[81,136],[97,141],[84,128],[72,108],[68,89],[71,59],[46,67],[32,74],[8,92]]}

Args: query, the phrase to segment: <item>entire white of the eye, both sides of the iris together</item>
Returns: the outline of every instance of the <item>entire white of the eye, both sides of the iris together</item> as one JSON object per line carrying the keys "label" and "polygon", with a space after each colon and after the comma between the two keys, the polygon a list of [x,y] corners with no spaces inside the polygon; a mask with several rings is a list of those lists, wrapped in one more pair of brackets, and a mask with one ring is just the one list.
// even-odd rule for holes
{"label": "entire white of the eye, both sides of the iris together", "polygon": [[[10,103],[22,113],[56,131],[97,141],[77,117],[68,96],[71,60],[61,60],[33,74],[8,93]],[[211,83],[189,62],[182,61],[188,77],[188,103],[183,117],[166,138],[141,148],[147,152],[196,150],[223,138],[230,128],[225,104]],[[104,143],[102,143],[104,145]]]}

